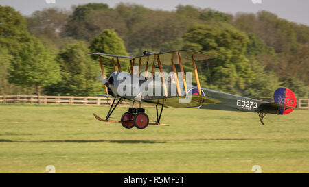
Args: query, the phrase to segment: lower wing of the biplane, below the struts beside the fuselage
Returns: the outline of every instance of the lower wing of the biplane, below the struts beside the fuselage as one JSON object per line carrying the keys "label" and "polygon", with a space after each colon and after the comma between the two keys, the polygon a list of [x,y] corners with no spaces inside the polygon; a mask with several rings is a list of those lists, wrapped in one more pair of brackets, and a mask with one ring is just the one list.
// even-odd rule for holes
{"label": "lower wing of the biplane, below the struts beside the fuselage", "polygon": [[221,103],[218,99],[213,99],[211,97],[206,97],[202,95],[190,95],[191,100],[187,100],[188,102],[180,103],[179,99],[185,99],[186,96],[181,97],[167,97],[167,98],[161,98],[161,99],[147,99],[143,100],[143,102],[146,103],[153,103],[153,104],[159,104],[159,105],[165,105],[170,107],[176,107],[176,108],[186,108],[186,107],[198,107],[201,105],[207,105],[207,104],[214,104],[214,103]]}

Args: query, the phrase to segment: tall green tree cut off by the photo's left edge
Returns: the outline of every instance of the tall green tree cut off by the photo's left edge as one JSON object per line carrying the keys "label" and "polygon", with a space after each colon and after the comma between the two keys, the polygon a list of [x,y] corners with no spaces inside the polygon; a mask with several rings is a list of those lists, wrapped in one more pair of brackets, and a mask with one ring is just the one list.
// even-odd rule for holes
{"label": "tall green tree cut off by the photo's left edge", "polygon": [[[23,18],[19,12],[15,11],[14,8],[3,7],[0,5],[0,87],[2,94],[16,94],[20,93],[20,91],[22,91],[23,94],[33,93],[33,86],[27,86],[26,88],[26,84],[23,84],[22,81],[20,81],[19,84],[16,84],[16,86],[12,84],[16,83],[14,82],[16,79],[22,79],[20,77],[24,77],[23,75],[25,75],[22,69],[22,63],[26,61],[27,58],[34,59],[35,55],[37,55],[36,53],[26,52],[30,50],[26,45],[30,45],[30,43],[33,44],[33,39],[34,38],[31,37],[27,31],[25,18]],[[42,46],[40,45],[40,47]],[[41,55],[42,54],[39,53],[38,57],[41,57]],[[21,59],[23,59],[22,62],[20,61]],[[16,79],[14,78],[13,80],[13,77],[9,75],[9,69],[10,66],[16,64],[21,68],[19,70],[21,71],[21,75],[16,73]],[[11,82],[8,82],[9,77],[12,78]]]}

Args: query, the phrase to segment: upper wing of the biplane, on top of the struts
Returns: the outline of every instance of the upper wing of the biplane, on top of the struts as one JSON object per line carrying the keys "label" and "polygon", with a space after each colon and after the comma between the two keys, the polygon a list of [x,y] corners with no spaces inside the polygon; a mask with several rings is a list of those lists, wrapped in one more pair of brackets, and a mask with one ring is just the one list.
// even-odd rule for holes
{"label": "upper wing of the biplane, on top of the struts", "polygon": [[170,64],[171,60],[174,61],[175,64],[179,63],[179,55],[181,56],[181,62],[192,62],[192,57],[194,60],[207,60],[211,58],[209,55],[205,53],[201,53],[198,51],[192,51],[192,50],[178,50],[178,51],[168,51],[164,53],[153,53],[148,55],[141,55],[141,56],[124,56],[124,55],[112,55],[112,54],[105,54],[105,53],[89,53],[92,55],[102,55],[105,58],[115,59],[118,58],[119,61],[122,62],[130,62],[132,60],[141,60],[142,62],[153,62],[157,61],[157,58],[160,58],[160,61],[162,64]]}

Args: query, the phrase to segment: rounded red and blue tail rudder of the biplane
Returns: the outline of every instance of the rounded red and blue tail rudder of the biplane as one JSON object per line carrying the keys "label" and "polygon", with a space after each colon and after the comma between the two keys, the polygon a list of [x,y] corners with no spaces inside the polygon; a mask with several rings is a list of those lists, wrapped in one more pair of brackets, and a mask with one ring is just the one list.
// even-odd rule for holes
{"label": "rounded red and blue tail rudder of the biplane", "polygon": [[[287,105],[290,107],[296,107],[296,97],[294,93],[288,88],[278,88],[273,94],[273,99],[280,105]],[[279,108],[279,114],[290,114],[293,108]]]}

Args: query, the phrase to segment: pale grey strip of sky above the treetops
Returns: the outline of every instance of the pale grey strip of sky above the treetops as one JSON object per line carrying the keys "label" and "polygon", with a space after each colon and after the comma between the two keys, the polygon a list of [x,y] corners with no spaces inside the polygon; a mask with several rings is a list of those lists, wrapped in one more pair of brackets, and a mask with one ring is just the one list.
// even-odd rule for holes
{"label": "pale grey strip of sky above the treetops", "polygon": [[176,6],[194,5],[198,8],[212,8],[220,12],[258,12],[267,10],[288,21],[309,25],[309,0],[0,0],[0,5],[8,5],[28,16],[35,10],[44,8],[66,8],[85,3],[106,3],[115,7],[118,3],[135,3],[144,7],[161,10],[175,10]]}

